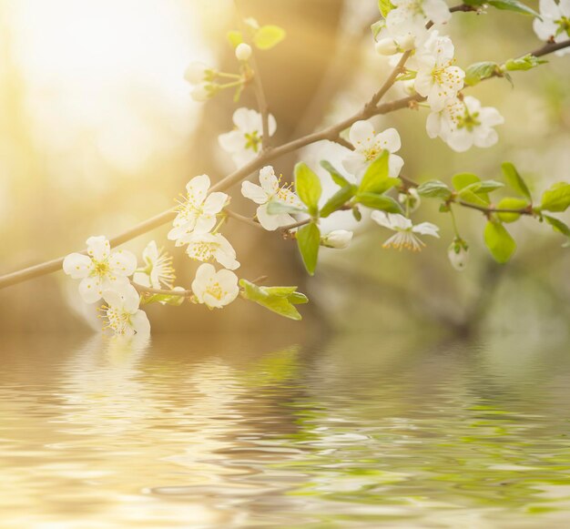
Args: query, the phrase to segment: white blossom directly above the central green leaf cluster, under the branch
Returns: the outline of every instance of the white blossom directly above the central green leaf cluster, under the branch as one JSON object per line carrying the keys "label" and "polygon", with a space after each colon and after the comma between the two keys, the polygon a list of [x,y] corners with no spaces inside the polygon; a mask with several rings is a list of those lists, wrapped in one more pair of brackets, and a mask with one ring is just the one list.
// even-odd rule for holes
{"label": "white blossom directly above the central green leaf cluster, under the branch", "polygon": [[370,121],[357,121],[351,127],[349,139],[354,151],[342,161],[343,167],[356,177],[361,177],[372,161],[382,154],[390,152],[388,167],[391,177],[397,177],[403,166],[403,159],[396,154],[402,147],[400,135],[395,128],[387,128],[376,134]]}

